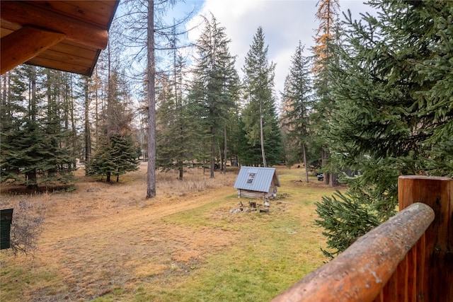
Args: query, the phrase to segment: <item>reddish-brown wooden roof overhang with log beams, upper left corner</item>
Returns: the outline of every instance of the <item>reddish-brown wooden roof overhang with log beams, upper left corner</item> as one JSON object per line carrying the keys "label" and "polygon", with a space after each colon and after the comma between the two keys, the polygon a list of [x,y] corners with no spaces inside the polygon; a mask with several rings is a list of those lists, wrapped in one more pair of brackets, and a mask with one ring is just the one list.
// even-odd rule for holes
{"label": "reddish-brown wooden roof overhang with log beams, upper left corner", "polygon": [[91,76],[119,2],[0,1],[0,74],[26,63]]}

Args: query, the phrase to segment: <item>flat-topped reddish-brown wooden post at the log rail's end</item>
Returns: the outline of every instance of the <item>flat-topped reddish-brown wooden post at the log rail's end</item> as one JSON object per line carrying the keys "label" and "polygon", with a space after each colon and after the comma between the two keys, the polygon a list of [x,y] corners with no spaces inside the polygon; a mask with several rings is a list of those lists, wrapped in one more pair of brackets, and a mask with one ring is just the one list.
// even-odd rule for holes
{"label": "flat-topped reddish-brown wooden post at the log rail's end", "polygon": [[420,260],[425,265],[420,267],[415,301],[453,301],[453,180],[400,176],[398,202],[400,210],[421,202],[428,204],[435,212],[435,219],[423,238],[425,251],[417,255],[424,257]]}

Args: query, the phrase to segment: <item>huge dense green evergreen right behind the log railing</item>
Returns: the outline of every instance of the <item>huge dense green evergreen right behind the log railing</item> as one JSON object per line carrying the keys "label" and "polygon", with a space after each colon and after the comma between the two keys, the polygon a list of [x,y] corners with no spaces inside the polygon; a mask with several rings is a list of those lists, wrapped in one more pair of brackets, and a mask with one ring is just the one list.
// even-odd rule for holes
{"label": "huge dense green evergreen right behind the log railing", "polygon": [[318,204],[332,254],[394,214],[399,175],[452,173],[452,74],[443,70],[451,66],[453,4],[370,4],[379,16],[348,16],[331,66],[331,154],[362,174]]}

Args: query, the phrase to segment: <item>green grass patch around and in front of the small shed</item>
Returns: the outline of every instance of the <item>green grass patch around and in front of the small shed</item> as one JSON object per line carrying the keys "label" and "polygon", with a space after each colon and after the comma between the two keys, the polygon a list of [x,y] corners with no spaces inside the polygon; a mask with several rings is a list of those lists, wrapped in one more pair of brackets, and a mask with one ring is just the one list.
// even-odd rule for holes
{"label": "green grass patch around and in front of the small shed", "polygon": [[[239,200],[224,197],[205,207],[174,214],[166,223],[233,232],[234,243],[207,255],[202,265],[178,282],[144,284],[134,301],[269,301],[302,277],[323,265],[324,238],[314,219],[314,202],[330,188],[284,183],[270,213],[229,213]],[[287,185],[289,184],[289,185]],[[248,199],[240,199],[248,204]],[[280,204],[273,210],[273,204]],[[283,207],[283,206],[284,207]]]}

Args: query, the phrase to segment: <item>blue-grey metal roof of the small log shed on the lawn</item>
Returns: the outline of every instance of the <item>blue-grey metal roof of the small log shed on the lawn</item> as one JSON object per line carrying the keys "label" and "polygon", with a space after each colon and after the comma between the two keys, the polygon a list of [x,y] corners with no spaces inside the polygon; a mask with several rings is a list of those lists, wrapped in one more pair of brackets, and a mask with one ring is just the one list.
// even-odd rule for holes
{"label": "blue-grey metal roof of the small log shed on the lawn", "polygon": [[[251,184],[247,183],[249,175],[254,173],[253,181]],[[275,168],[261,168],[261,167],[241,167],[239,170],[238,178],[234,182],[236,189],[269,192],[270,184],[272,183],[273,177],[277,180],[277,186],[280,187],[277,174],[275,174]]]}

